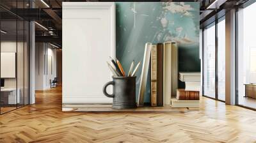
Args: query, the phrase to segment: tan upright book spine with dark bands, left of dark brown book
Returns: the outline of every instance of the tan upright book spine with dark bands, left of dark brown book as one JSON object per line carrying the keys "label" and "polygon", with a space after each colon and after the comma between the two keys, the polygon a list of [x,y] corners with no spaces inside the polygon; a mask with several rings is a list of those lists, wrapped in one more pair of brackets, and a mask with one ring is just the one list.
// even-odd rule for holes
{"label": "tan upright book spine with dark bands, left of dark brown book", "polygon": [[151,49],[151,106],[157,105],[157,47]]}

